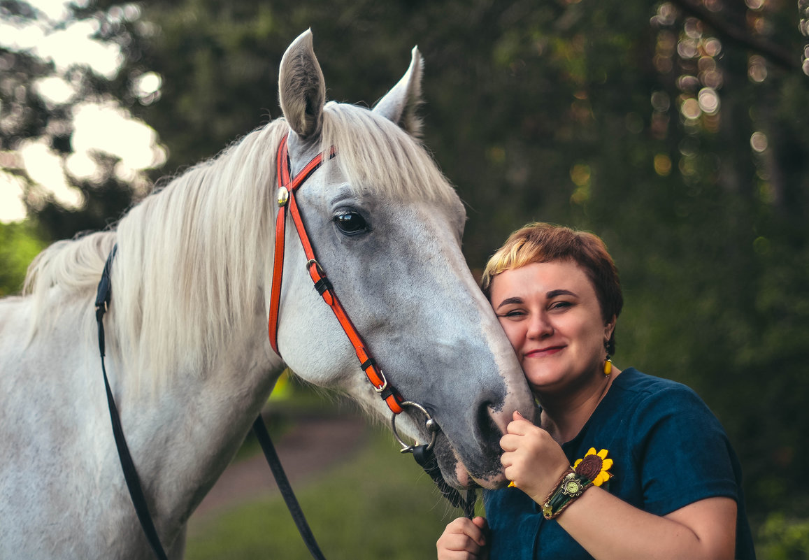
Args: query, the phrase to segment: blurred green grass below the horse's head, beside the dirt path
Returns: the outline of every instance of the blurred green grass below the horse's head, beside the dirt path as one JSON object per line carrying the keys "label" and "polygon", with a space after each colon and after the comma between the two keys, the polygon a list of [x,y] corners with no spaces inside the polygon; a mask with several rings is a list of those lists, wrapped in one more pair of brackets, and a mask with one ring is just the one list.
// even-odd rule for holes
{"label": "blurred green grass below the horse's head, beside the dirt path", "polygon": [[[353,460],[295,487],[328,560],[424,560],[458,515],[392,435],[368,428]],[[282,457],[283,460],[283,457]],[[269,473],[267,476],[272,476]],[[189,527],[187,560],[311,558],[280,495],[256,498]]]}

